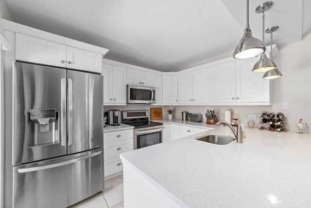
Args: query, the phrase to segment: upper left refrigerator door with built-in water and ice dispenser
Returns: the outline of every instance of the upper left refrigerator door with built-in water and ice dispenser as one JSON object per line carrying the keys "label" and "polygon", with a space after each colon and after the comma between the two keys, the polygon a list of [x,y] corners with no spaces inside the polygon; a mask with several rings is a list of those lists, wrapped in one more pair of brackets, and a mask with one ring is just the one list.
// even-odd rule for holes
{"label": "upper left refrigerator door with built-in water and ice dispenser", "polygon": [[13,62],[13,165],[66,155],[66,69]]}

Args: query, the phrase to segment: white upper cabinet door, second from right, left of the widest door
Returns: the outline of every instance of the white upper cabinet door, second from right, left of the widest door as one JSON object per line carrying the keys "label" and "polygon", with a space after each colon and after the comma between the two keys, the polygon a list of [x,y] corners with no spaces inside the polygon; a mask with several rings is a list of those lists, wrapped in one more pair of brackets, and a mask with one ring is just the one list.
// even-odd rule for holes
{"label": "white upper cabinet door, second from right, left of the widest door", "polygon": [[212,102],[235,102],[235,61],[214,66],[212,74]]}

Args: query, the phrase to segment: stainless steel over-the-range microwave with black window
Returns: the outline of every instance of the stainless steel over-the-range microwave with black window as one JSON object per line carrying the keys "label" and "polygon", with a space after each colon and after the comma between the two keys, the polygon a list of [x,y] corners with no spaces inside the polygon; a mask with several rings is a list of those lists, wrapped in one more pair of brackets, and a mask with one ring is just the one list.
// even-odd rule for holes
{"label": "stainless steel over-the-range microwave with black window", "polygon": [[127,103],[155,103],[155,87],[128,84]]}

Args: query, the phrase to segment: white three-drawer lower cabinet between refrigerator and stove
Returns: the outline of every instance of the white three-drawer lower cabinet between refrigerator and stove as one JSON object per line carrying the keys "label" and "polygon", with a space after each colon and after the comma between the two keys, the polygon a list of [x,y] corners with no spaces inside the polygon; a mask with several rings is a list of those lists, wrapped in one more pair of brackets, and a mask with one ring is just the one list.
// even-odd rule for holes
{"label": "white three-drawer lower cabinet between refrigerator and stove", "polygon": [[104,132],[104,176],[121,174],[120,154],[131,150],[134,150],[133,129]]}

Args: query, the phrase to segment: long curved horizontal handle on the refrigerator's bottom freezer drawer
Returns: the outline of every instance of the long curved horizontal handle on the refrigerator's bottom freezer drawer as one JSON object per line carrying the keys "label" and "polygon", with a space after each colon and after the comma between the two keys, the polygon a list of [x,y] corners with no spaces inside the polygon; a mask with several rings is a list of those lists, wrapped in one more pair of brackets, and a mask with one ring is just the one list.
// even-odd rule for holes
{"label": "long curved horizontal handle on the refrigerator's bottom freezer drawer", "polygon": [[19,173],[24,173],[24,172],[32,172],[32,171],[38,171],[38,170],[46,170],[46,169],[51,169],[51,168],[56,168],[59,166],[65,166],[71,163],[75,163],[81,160],[86,160],[87,158],[90,157],[94,157],[96,155],[101,154],[102,151],[98,151],[80,158],[76,158],[76,159],[72,159],[72,160],[68,160],[68,161],[64,161],[64,162],[60,162],[60,163],[54,163],[54,164],[50,164],[50,165],[45,165],[45,166],[37,166],[37,167],[33,167],[33,168],[24,168],[24,169],[18,169],[17,172]]}

